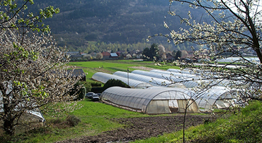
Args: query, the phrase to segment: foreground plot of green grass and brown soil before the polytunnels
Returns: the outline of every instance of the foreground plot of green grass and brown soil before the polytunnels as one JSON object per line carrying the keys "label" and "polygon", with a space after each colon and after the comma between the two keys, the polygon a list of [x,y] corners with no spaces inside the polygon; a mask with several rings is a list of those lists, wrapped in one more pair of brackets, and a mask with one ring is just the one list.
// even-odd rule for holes
{"label": "foreground plot of green grass and brown soil before the polytunnels", "polygon": [[[81,123],[71,126],[66,122],[67,113],[59,118],[44,116],[44,128],[25,132],[12,139],[13,142],[117,142],[135,141],[157,137],[165,133],[181,130],[183,115],[163,114],[149,116],[126,111],[91,99],[79,101],[82,108],[69,113],[81,119]],[[188,116],[187,127],[203,123],[209,116],[195,114]],[[1,137],[3,138],[3,137]]]}

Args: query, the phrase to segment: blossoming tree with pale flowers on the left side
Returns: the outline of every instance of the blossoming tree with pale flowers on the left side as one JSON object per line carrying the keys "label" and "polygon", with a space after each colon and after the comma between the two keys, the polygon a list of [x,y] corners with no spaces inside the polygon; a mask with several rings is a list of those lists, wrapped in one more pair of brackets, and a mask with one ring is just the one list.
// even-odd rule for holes
{"label": "blossoming tree with pale flowers on the left side", "polygon": [[38,25],[58,10],[50,6],[38,15],[27,14],[24,9],[33,1],[16,2],[0,2],[6,10],[0,14],[0,119],[7,135],[14,135],[26,112],[76,98],[67,93],[78,81],[67,71],[66,53],[46,33],[49,27]]}

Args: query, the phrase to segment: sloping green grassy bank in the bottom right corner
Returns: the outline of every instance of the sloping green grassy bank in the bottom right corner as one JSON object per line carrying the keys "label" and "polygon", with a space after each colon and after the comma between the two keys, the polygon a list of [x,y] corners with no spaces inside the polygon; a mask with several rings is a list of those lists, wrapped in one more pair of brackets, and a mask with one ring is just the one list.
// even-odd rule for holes
{"label": "sloping green grassy bank in the bottom right corner", "polygon": [[[253,101],[228,118],[186,130],[186,142],[262,142],[262,102]],[[183,132],[137,140],[140,142],[183,142]]]}

